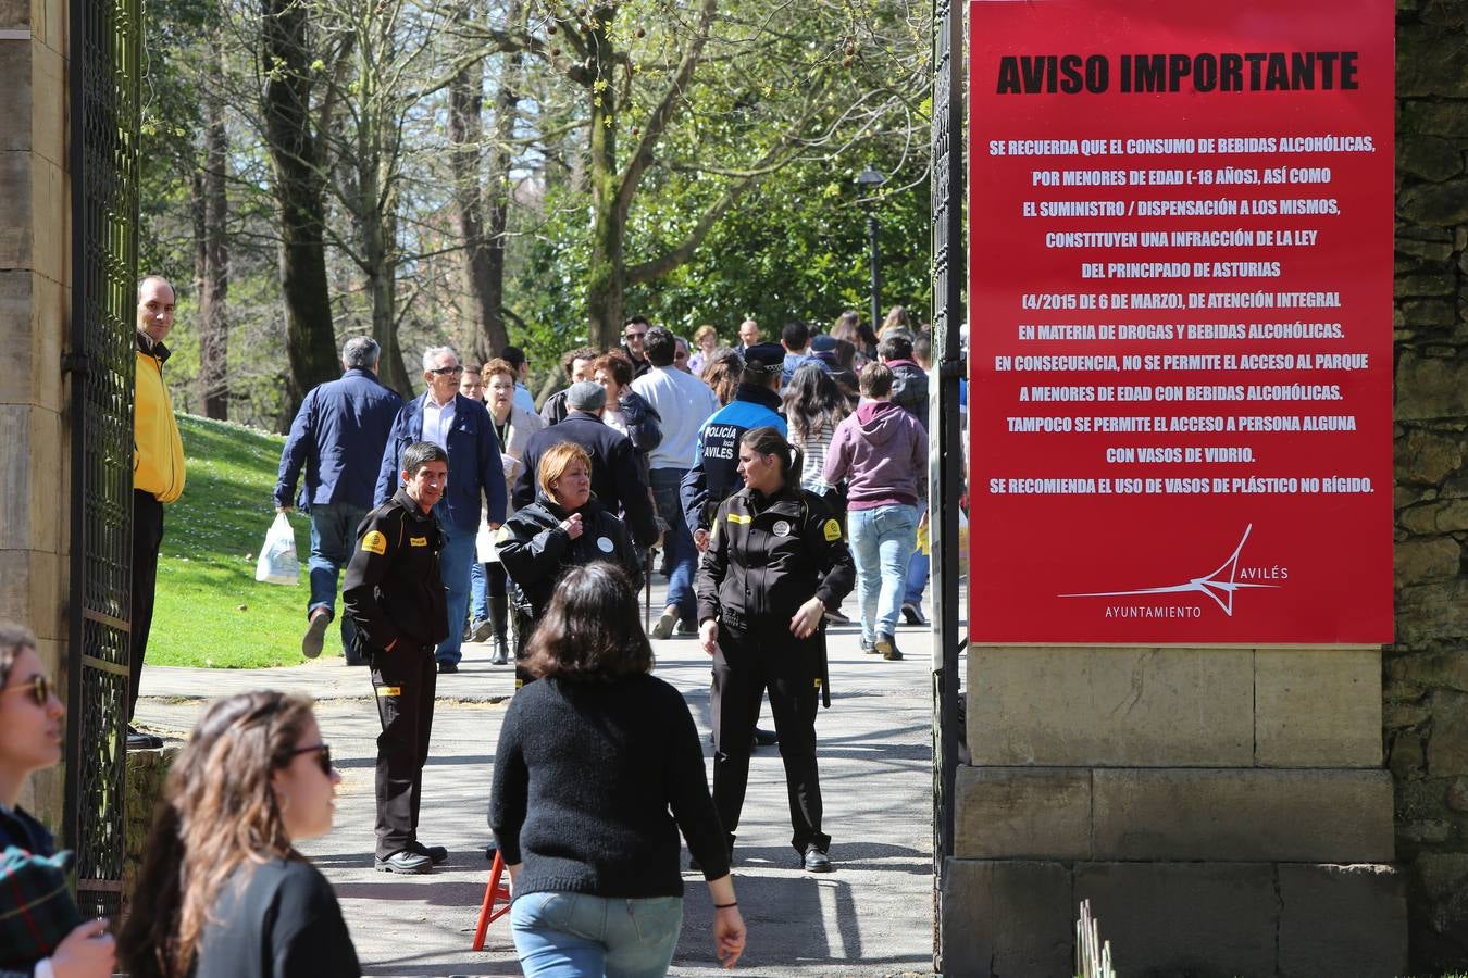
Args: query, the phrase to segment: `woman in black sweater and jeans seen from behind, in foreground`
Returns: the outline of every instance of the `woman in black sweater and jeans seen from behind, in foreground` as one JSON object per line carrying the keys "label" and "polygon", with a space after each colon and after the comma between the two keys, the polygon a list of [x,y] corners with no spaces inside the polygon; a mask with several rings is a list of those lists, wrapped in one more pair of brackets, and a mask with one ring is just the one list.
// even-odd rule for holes
{"label": "woman in black sweater and jeans seen from behind, in foreground", "polygon": [[713,897],[725,968],[744,949],[703,751],[677,689],[649,674],[637,592],[606,563],[562,578],[495,752],[489,824],[514,884],[526,975],[664,975],[683,922],[678,833]]}

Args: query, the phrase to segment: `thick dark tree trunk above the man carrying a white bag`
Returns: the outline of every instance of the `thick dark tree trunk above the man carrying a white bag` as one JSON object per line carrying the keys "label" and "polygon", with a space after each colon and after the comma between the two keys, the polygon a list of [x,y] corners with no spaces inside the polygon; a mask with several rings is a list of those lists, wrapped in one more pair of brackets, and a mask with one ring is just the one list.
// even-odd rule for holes
{"label": "thick dark tree trunk above the man carrying a white bag", "polygon": [[285,430],[305,393],[335,380],[336,334],[326,277],[326,204],[320,148],[311,130],[307,4],[261,0],[261,111],[280,211],[280,289],[291,372],[277,424]]}

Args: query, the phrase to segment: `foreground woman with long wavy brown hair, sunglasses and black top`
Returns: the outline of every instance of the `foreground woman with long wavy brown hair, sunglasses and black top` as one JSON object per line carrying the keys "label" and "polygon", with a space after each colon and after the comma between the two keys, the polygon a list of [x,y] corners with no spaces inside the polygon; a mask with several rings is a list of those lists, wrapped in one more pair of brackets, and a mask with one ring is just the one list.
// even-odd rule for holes
{"label": "foreground woman with long wavy brown hair, sunglasses and black top", "polygon": [[134,978],[355,978],[332,886],[295,849],[332,828],[330,745],[311,702],[282,692],[216,701],[169,773],[128,918]]}

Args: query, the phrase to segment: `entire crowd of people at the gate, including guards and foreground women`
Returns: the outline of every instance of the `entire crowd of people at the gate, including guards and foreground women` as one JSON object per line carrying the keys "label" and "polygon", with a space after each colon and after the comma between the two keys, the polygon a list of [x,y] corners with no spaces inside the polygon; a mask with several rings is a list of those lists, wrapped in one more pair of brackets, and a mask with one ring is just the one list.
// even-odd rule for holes
{"label": "entire crowd of people at the gate, including guards and foreground women", "polygon": [[[161,380],[173,312],[172,286],[145,279],[135,670],[163,506],[184,488]],[[900,308],[881,331],[846,312],[828,333],[787,324],[778,343],[746,320],[731,348],[712,326],[690,343],[633,317],[617,348],[567,350],[567,384],[537,411],[520,348],[479,367],[430,348],[424,390],[405,402],[377,381],[377,343],[348,340],[342,377],[295,416],[273,501],[310,518],[308,658],[338,620],[345,573],[341,642],[348,664],[368,667],[382,726],[374,865],[415,874],[448,858],[418,836],[435,696],[464,642],[489,641],[490,664],[514,660],[517,674],[489,823],[526,974],[665,974],[680,833],[731,966],[744,924],[730,867],[766,694],[797,865],[828,872],[815,730],[829,705],[825,632],[853,623],[841,611],[853,588],[865,651],[900,660],[898,619],[925,623],[926,563],[913,557],[928,521],[928,349]],[[666,601],[644,629],[637,595],[658,572]],[[712,793],[687,705],[650,674],[649,638],[674,635],[711,657]],[[62,872],[50,836],[16,808],[25,779],[59,760],[62,704],[34,636],[6,623],[0,691],[0,848]],[[330,830],[338,780],[308,701],[214,702],[154,823],[139,877],[150,911],[116,946],[57,913],[54,940],[0,959],[0,975],[110,974],[117,959],[176,978],[360,974],[330,886],[295,849]]]}

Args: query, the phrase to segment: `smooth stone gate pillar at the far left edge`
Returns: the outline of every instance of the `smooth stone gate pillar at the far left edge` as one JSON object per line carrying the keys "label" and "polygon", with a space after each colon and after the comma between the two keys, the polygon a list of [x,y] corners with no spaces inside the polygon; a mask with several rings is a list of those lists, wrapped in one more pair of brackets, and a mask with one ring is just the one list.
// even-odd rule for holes
{"label": "smooth stone gate pillar at the far left edge", "polygon": [[[0,0],[0,616],[29,626],[65,689],[70,463],[66,3]],[[22,804],[62,823],[62,773]]]}

